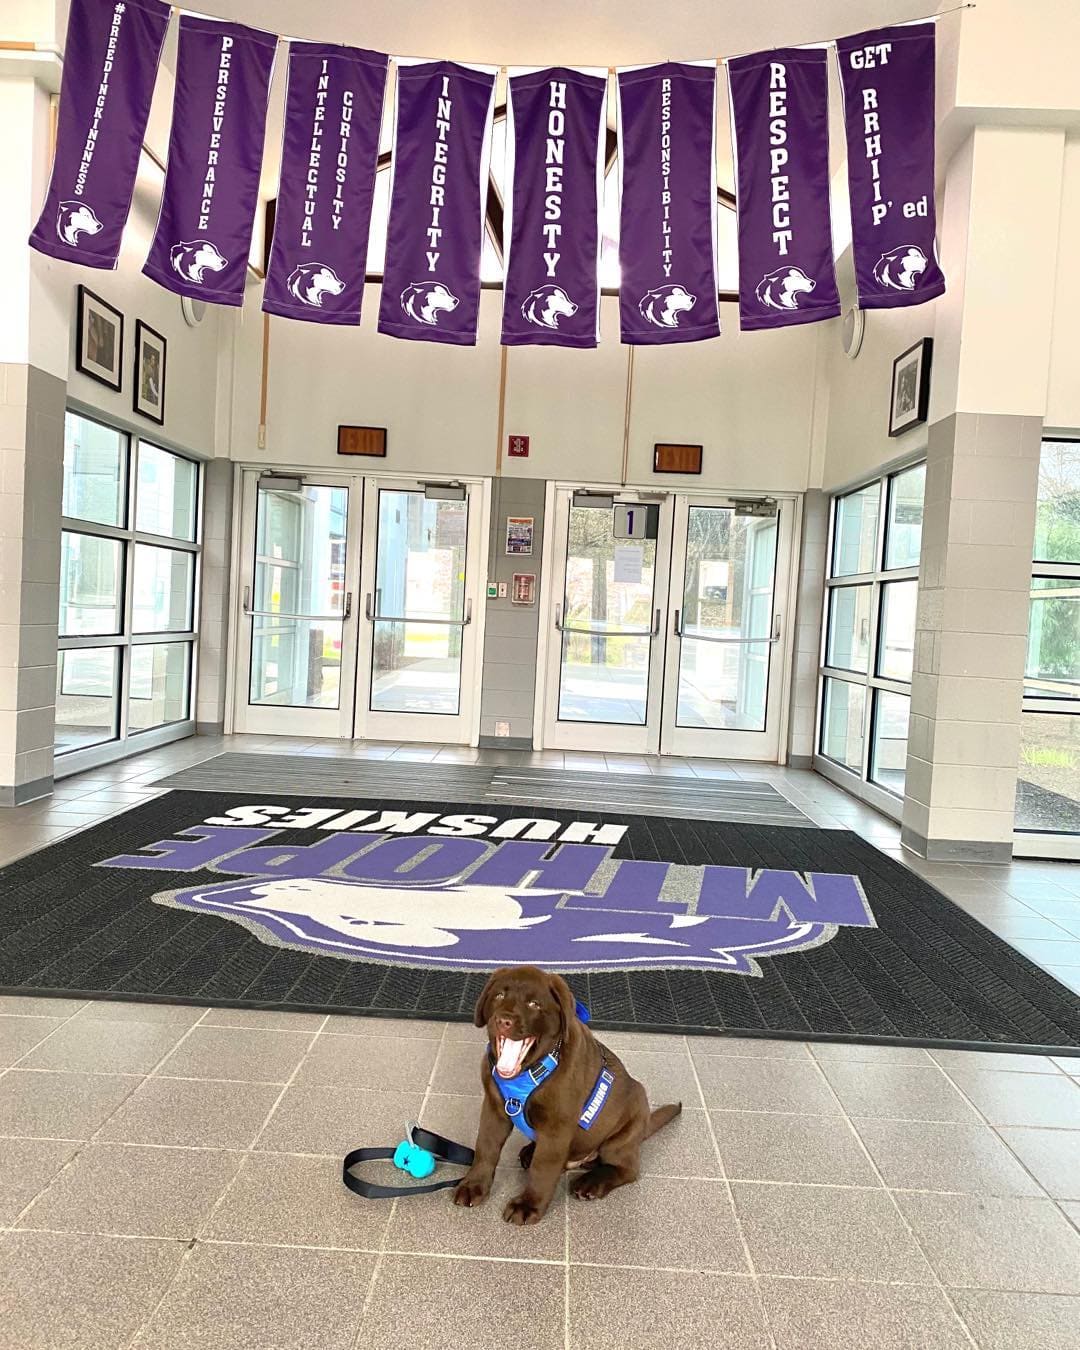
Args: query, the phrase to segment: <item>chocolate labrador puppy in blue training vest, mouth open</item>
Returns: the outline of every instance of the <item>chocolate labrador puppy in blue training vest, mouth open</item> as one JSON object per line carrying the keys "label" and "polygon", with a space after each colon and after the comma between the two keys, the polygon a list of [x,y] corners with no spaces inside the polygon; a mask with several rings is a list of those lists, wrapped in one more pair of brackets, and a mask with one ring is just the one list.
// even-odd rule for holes
{"label": "chocolate labrador puppy in blue training vest, mouth open", "polygon": [[475,1161],[454,1192],[455,1204],[487,1199],[514,1123],[533,1142],[520,1154],[529,1174],[502,1211],[508,1223],[539,1223],[567,1168],[587,1169],[572,1187],[579,1200],[599,1200],[637,1180],[641,1141],[672,1120],[682,1102],[649,1111],[644,1087],[578,1017],[566,980],[533,965],[495,971],[477,1002],[475,1023],[487,1027],[489,1038],[483,1110]]}

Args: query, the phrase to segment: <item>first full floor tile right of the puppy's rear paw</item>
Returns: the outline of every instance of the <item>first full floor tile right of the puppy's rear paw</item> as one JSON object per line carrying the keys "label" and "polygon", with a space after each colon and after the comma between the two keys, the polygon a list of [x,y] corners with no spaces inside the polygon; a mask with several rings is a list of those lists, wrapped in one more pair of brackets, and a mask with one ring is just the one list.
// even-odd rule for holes
{"label": "first full floor tile right of the puppy's rear paw", "polygon": [[714,1111],[713,1129],[732,1179],[880,1184],[856,1135],[834,1116]]}

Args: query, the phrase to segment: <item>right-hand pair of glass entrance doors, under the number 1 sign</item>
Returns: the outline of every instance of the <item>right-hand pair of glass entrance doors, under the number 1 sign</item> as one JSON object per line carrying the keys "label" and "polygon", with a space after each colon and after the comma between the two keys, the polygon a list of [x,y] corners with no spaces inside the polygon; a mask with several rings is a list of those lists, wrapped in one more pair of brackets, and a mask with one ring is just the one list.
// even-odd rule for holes
{"label": "right-hand pair of glass entrance doors, under the number 1 sign", "polygon": [[649,500],[556,491],[544,744],[775,761],[792,505],[670,494],[616,537]]}

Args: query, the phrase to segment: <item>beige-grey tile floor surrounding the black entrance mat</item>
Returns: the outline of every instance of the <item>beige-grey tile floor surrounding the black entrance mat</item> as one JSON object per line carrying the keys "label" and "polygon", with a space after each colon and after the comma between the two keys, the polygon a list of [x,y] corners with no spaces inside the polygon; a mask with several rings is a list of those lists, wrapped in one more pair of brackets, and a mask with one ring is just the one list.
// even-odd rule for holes
{"label": "beige-grey tile floor surrounding the black entrance mat", "polygon": [[[342,753],[200,737],[94,770],[0,811],[0,865],[224,748]],[[921,863],[807,772],[612,767],[768,779],[1080,991],[1080,865]],[[637,1185],[595,1206],[562,1189],[529,1230],[498,1215],[510,1146],[479,1211],[344,1191],[342,1153],[408,1118],[470,1139],[479,1037],[0,998],[0,1350],[1080,1350],[1080,1060],[613,1035],[686,1106]]]}

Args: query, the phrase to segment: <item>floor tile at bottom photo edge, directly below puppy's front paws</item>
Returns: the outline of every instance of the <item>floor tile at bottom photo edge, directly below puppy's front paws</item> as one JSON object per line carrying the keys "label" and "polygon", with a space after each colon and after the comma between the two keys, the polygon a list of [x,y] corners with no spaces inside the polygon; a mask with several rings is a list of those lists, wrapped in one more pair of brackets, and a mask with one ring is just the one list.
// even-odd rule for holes
{"label": "floor tile at bottom photo edge, directly below puppy's front paws", "polygon": [[356,1350],[563,1350],[564,1282],[560,1265],[387,1256]]}

